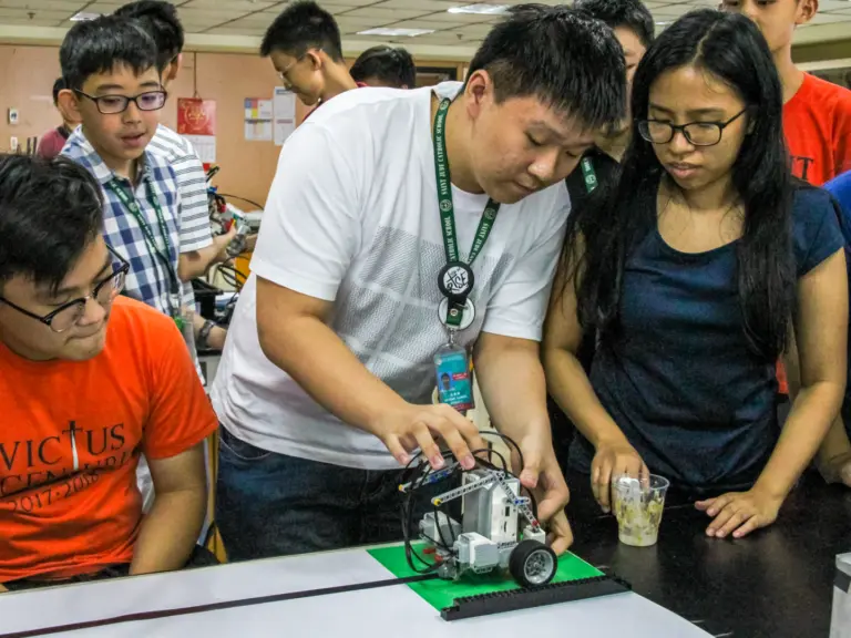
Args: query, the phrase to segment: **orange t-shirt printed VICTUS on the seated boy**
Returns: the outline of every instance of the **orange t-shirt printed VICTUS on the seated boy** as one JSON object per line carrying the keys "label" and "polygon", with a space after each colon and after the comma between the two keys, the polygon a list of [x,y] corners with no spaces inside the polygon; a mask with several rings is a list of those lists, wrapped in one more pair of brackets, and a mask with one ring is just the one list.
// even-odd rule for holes
{"label": "orange t-shirt printed VICTUS on the seated boy", "polygon": [[172,319],[125,297],[88,361],[30,361],[0,343],[0,583],[130,563],[140,452],[175,456],[217,428]]}

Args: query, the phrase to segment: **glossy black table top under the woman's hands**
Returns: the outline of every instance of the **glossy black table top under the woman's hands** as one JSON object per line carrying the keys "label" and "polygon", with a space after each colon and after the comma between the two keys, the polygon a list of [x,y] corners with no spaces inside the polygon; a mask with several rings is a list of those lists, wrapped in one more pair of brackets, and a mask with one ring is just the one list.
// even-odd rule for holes
{"label": "glossy black table top under the woman's hands", "polygon": [[666,503],[658,543],[629,547],[593,502],[587,477],[568,484],[571,549],[642,596],[714,636],[827,638],[835,556],[851,552],[851,490],[807,474],[777,522],[741,539],[709,538],[705,513]]}

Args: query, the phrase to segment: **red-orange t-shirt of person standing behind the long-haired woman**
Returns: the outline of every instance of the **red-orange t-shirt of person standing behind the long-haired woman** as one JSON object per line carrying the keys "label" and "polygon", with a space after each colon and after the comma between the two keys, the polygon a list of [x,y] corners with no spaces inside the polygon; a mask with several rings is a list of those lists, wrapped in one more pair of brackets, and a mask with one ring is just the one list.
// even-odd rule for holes
{"label": "red-orange t-shirt of person standing behind the long-haired woman", "polygon": [[851,171],[851,91],[809,73],[783,104],[792,173],[821,186]]}

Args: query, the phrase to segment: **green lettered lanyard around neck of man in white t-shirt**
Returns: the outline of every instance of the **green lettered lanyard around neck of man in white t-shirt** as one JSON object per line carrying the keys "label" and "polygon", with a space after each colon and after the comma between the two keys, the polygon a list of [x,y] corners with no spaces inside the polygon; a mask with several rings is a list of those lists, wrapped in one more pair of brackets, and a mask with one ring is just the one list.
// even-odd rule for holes
{"label": "green lettered lanyard around neck of man in white t-shirt", "polygon": [[443,249],[447,254],[447,265],[440,271],[438,287],[449,299],[447,325],[450,328],[458,328],[463,318],[466,298],[473,289],[473,271],[470,266],[481,253],[484,243],[488,241],[491,228],[496,222],[500,205],[493,199],[488,199],[488,205],[484,207],[479,227],[475,230],[468,261],[464,264],[458,253],[452,182],[449,173],[449,158],[447,157],[447,113],[450,104],[450,100],[441,100],[438,114],[434,117],[434,172],[438,181],[440,227],[443,233]]}

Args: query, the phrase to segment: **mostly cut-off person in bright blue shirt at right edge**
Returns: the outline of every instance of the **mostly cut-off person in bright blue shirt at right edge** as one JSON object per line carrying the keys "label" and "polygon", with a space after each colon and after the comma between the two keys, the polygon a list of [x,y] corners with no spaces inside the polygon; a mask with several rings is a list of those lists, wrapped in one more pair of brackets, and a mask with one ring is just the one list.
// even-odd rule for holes
{"label": "mostly cut-off person in bright blue shirt at right edge", "polygon": [[[851,171],[834,177],[823,188],[837,199],[839,223],[845,246],[851,247]],[[851,339],[849,340],[851,343]],[[851,360],[851,357],[849,357]],[[819,469],[829,483],[851,486],[851,387],[845,385],[840,418],[828,432],[819,451]]]}

